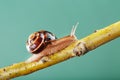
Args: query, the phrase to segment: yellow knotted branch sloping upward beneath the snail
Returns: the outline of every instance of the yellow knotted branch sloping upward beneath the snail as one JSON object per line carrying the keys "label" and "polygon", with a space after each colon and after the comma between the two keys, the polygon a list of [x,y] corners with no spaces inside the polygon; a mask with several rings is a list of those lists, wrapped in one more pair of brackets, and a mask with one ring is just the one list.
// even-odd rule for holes
{"label": "yellow knotted branch sloping upward beneath the snail", "polygon": [[18,76],[30,74],[37,70],[46,68],[56,63],[65,61],[77,55],[83,55],[100,45],[107,43],[120,36],[120,21],[104,29],[97,30],[93,34],[77,40],[67,48],[43,57],[39,62],[25,63],[20,62],[0,69],[0,80],[9,80]]}

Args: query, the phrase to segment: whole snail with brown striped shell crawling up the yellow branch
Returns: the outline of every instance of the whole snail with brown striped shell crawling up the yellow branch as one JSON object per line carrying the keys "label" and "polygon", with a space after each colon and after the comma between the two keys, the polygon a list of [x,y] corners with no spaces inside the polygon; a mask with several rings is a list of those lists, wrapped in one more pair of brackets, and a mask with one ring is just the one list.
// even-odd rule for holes
{"label": "whole snail with brown striped shell crawling up the yellow branch", "polygon": [[57,39],[53,33],[45,30],[32,33],[28,37],[26,48],[33,55],[26,62],[39,61],[42,57],[52,55],[75,42],[77,40],[75,36],[77,26],[78,23],[73,26],[70,35],[60,39]]}

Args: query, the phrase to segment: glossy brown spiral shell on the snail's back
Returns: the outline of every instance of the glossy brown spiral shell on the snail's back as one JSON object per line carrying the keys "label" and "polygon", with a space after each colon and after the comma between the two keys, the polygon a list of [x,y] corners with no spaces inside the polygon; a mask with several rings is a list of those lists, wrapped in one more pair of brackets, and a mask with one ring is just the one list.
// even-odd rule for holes
{"label": "glossy brown spiral shell on the snail's back", "polygon": [[26,48],[30,53],[40,53],[56,36],[49,31],[41,30],[32,33],[26,43]]}

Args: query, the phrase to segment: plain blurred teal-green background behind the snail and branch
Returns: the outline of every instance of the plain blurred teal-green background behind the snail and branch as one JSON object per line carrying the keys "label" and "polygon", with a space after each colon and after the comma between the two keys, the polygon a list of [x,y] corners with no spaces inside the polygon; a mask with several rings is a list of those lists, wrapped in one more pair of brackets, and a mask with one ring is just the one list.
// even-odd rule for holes
{"label": "plain blurred teal-green background behind the snail and branch", "polygon": [[[58,38],[83,38],[120,20],[120,0],[0,0],[0,67],[31,56],[25,42],[45,29]],[[76,57],[13,80],[120,80],[120,39]]]}

